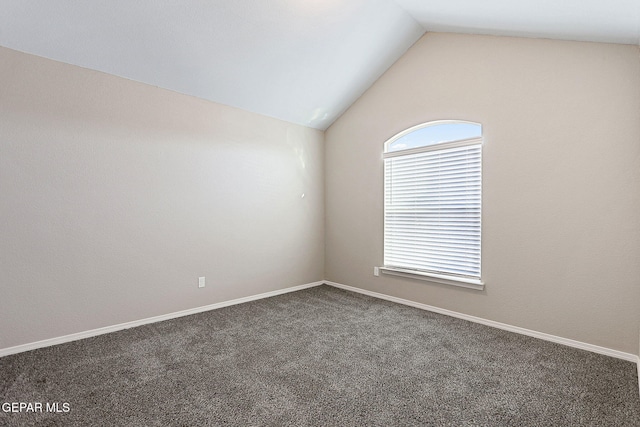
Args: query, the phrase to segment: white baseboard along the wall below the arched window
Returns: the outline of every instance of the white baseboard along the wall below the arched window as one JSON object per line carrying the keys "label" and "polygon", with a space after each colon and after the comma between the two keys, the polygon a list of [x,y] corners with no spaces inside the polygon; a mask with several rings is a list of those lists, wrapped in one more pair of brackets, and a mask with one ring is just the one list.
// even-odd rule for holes
{"label": "white baseboard along the wall below the arched window", "polygon": [[[506,331],[515,332],[517,334],[527,335],[527,336],[534,337],[534,338],[540,338],[540,339],[543,339],[545,341],[551,341],[551,342],[555,342],[555,343],[558,343],[558,344],[564,344],[564,345],[567,345],[569,347],[575,347],[575,348],[579,348],[579,349],[582,349],[582,350],[591,351],[593,353],[604,354],[606,356],[615,357],[617,359],[623,359],[623,360],[628,360],[630,362],[639,363],[638,356],[636,356],[635,354],[625,353],[625,352],[622,352],[622,351],[613,350],[613,349],[606,348],[606,347],[600,347],[600,346],[594,345],[594,344],[588,344],[588,343],[584,343],[584,342],[581,342],[581,341],[575,341],[575,340],[571,340],[571,339],[568,339],[568,338],[562,338],[562,337],[558,337],[558,336],[555,336],[555,335],[545,334],[544,332],[532,331],[530,329],[520,328],[518,326],[512,326],[512,325],[508,325],[506,323],[495,322],[493,320],[487,320],[487,319],[483,319],[481,317],[470,316],[468,314],[458,313],[458,312],[455,312],[455,311],[446,310],[444,308],[438,308],[438,307],[434,307],[434,306],[427,305],[427,304],[422,304],[422,303],[415,302],[415,301],[410,301],[410,300],[406,300],[406,299],[402,299],[402,298],[393,297],[391,295],[381,294],[381,293],[378,293],[378,292],[372,292],[372,291],[368,291],[366,289],[354,288],[353,286],[347,286],[347,285],[343,285],[341,283],[329,282],[329,281],[326,281],[326,280],[325,280],[324,283],[329,285],[329,286],[334,286],[336,288],[344,289],[344,290],[347,290],[347,291],[352,291],[352,292],[357,292],[357,293],[364,294],[364,295],[369,295],[369,296],[372,296],[374,298],[380,298],[380,299],[384,299],[384,300],[387,300],[387,301],[392,301],[392,302],[396,302],[396,303],[399,303],[399,304],[404,304],[404,305],[408,305],[408,306],[411,306],[411,307],[419,308],[419,309],[422,309],[422,310],[432,311],[434,313],[444,314],[444,315],[451,316],[451,317],[457,317],[459,319],[468,320],[468,321],[474,322],[474,323],[480,323],[480,324],[491,326],[491,327],[498,328],[498,329],[504,329]],[[638,372],[640,374],[640,366],[638,367],[638,369],[639,369]],[[640,378],[640,376],[639,376],[639,378]],[[640,385],[639,385],[639,387],[640,387]],[[640,391],[640,388],[639,388],[639,391]]]}

